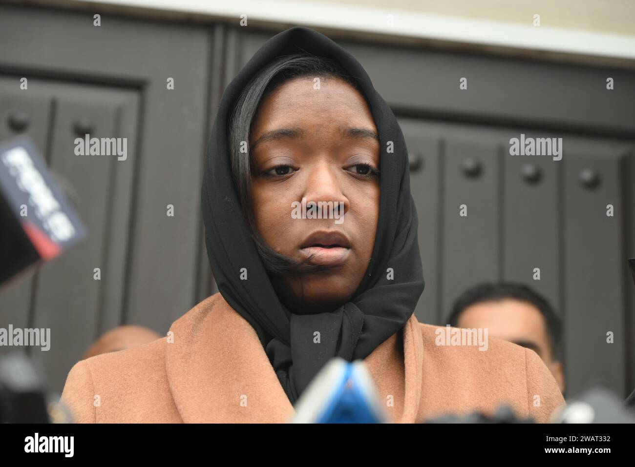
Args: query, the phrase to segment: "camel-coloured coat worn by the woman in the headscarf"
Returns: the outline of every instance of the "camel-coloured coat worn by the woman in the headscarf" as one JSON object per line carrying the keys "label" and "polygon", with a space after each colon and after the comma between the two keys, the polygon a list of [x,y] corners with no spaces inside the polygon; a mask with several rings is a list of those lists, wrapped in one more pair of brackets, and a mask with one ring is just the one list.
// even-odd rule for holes
{"label": "camel-coloured coat worn by the woman in the headscarf", "polygon": [[[486,351],[438,346],[436,329],[413,315],[364,360],[393,421],[491,413],[506,403],[519,416],[546,422],[563,404],[556,381],[532,350],[495,338]],[[275,423],[293,415],[256,332],[220,293],[194,306],[170,331],[74,365],[61,400],[75,421]]]}

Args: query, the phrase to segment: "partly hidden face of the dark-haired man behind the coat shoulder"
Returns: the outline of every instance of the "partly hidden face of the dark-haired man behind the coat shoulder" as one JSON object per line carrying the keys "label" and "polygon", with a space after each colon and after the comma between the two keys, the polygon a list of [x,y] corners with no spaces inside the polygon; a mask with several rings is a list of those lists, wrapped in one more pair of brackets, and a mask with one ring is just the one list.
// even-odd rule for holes
{"label": "partly hidden face of the dark-haired man behind the coat shoulder", "polygon": [[490,336],[530,348],[551,370],[560,391],[565,390],[563,367],[554,360],[545,320],[531,303],[515,299],[476,303],[461,313],[458,327],[487,328]]}

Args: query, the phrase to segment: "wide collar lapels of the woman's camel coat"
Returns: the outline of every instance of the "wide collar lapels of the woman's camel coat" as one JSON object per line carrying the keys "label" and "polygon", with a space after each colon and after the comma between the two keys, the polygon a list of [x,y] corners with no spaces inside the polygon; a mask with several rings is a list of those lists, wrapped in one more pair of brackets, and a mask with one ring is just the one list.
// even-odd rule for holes
{"label": "wide collar lapels of the woman's camel coat", "polygon": [[[403,398],[403,404],[396,404],[403,411],[393,415],[394,421],[417,421],[423,343],[415,315],[403,332],[364,361],[378,386],[403,388],[403,395],[394,395]],[[172,324],[165,362],[170,391],[185,423],[284,423],[294,414],[255,330],[220,293]],[[387,370],[386,362],[399,364]],[[395,378],[403,378],[403,384],[394,385]]]}

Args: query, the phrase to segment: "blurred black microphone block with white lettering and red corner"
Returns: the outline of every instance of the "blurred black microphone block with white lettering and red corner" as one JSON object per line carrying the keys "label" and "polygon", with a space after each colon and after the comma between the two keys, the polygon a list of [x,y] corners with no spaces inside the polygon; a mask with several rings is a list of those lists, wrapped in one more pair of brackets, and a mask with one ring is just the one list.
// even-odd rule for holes
{"label": "blurred black microphone block with white lettering and red corner", "polygon": [[86,237],[27,135],[0,144],[0,284]]}

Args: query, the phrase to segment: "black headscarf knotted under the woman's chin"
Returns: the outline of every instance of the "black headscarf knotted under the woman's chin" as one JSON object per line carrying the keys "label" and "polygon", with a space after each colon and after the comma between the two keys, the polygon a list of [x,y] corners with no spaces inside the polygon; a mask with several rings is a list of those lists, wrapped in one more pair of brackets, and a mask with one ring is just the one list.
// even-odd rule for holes
{"label": "black headscarf knotted under the woman's chin", "polygon": [[[234,102],[258,70],[277,56],[307,52],[335,60],[363,89],[380,139],[381,193],[373,257],[351,301],[334,312],[298,315],[281,304],[258,255],[232,181],[227,135]],[[403,133],[359,62],[323,34],[305,27],[277,34],[227,86],[211,132],[201,201],[218,290],[257,332],[291,403],[330,358],[367,357],[414,312],[424,277]],[[241,280],[242,268],[247,280]],[[316,331],[319,345],[314,343]]]}

